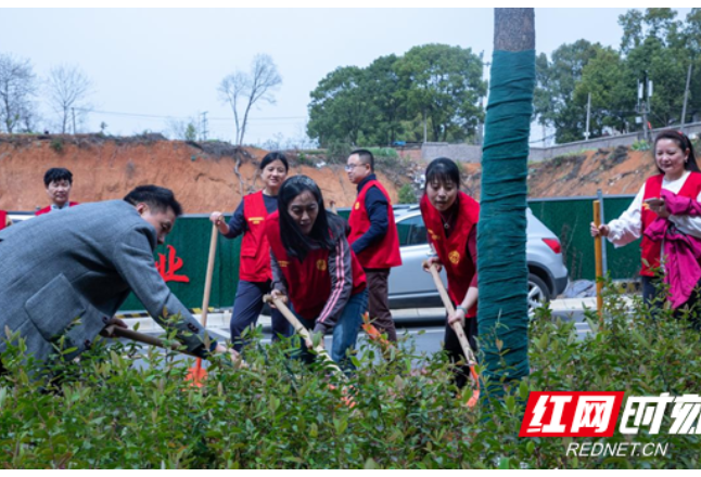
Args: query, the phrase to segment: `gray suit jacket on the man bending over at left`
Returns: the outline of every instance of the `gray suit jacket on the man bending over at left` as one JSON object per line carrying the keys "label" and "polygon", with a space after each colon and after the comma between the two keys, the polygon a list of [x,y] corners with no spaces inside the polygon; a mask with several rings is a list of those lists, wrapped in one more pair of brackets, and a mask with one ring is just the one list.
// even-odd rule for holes
{"label": "gray suit jacket on the man bending over at left", "polygon": [[[0,351],[5,330],[47,359],[65,336],[68,358],[90,347],[133,291],[162,324],[181,314],[178,339],[202,356],[204,331],[155,268],[155,229],[124,201],[84,204],[0,232]],[[80,319],[76,321],[76,319]]]}

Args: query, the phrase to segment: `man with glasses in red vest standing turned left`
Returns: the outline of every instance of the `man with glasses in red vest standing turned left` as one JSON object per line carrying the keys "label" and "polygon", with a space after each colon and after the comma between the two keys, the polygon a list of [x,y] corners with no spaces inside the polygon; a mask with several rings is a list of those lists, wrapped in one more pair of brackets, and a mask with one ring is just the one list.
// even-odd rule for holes
{"label": "man with glasses in red vest standing turned left", "polygon": [[399,235],[390,194],[374,173],[374,157],[367,150],[348,156],[351,182],[358,186],[358,199],[351,211],[353,247],[368,278],[369,311],[374,325],[396,343],[397,331],[390,312],[390,270],[402,266]]}

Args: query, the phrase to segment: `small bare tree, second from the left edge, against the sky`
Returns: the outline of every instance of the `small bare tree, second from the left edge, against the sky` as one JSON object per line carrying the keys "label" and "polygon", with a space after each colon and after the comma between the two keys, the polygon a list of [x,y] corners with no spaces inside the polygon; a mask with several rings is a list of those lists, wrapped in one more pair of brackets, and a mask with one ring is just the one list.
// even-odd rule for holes
{"label": "small bare tree, second from the left edge, against the sky", "polygon": [[[47,100],[53,111],[59,115],[62,133],[68,130],[68,124],[73,115],[79,117],[85,115],[89,107],[87,99],[92,92],[92,81],[82,73],[78,66],[60,65],[51,68],[47,79]],[[74,133],[75,124],[74,124]]]}

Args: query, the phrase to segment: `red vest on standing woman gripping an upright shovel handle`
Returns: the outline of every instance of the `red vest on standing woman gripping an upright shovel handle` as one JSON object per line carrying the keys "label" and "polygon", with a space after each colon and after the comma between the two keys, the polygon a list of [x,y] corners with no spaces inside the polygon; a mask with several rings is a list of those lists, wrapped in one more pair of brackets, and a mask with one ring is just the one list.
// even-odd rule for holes
{"label": "red vest on standing woman gripping an upright shovel handle", "polygon": [[270,247],[265,234],[268,218],[263,191],[243,197],[243,216],[248,230],[241,242],[241,269],[239,278],[245,282],[265,283],[272,279]]}

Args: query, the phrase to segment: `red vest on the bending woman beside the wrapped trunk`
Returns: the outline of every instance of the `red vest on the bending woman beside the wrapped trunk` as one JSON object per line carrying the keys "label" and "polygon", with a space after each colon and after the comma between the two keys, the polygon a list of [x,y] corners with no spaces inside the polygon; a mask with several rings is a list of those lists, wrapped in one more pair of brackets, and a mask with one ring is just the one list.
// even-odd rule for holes
{"label": "red vest on the bending woman beside the wrapped trunk", "polygon": [[[446,237],[441,212],[431,204],[426,195],[421,199],[421,214],[429,229],[429,241],[438,254],[448,275],[448,294],[456,304],[461,304],[470,289],[476,272],[476,263],[468,253],[468,240],[472,228],[480,220],[480,204],[468,194],[460,192],[460,208],[456,228]],[[468,311],[468,318],[477,315],[477,307]]]}

